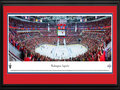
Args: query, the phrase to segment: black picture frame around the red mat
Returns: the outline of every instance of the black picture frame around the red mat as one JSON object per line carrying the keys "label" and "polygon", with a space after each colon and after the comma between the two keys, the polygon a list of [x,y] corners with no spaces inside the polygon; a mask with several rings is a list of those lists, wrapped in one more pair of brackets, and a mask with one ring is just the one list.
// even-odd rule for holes
{"label": "black picture frame around the red mat", "polygon": [[[41,5],[41,6],[113,6],[117,5],[117,85],[84,85],[84,84],[33,84],[33,85],[4,85],[3,84],[3,6],[4,5]],[[120,1],[119,0],[1,0],[0,1],[0,38],[1,38],[1,56],[0,56],[0,88],[1,89],[120,89]]]}

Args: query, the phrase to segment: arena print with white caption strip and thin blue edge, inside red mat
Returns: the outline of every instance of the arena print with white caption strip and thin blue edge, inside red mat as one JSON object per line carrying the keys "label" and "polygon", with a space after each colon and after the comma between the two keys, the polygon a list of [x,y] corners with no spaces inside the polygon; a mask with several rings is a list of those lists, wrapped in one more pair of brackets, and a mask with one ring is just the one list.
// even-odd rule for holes
{"label": "arena print with white caption strip and thin blue edge, inside red mat", "polygon": [[112,13],[8,13],[7,21],[8,73],[113,73]]}

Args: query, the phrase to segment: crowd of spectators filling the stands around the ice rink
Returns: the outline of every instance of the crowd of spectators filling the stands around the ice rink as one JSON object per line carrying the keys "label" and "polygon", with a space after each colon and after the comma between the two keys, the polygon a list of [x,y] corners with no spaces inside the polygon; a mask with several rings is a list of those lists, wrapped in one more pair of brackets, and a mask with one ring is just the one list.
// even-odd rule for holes
{"label": "crowd of spectators filling the stands around the ice rink", "polygon": [[[106,22],[105,22],[106,21]],[[111,23],[110,19],[101,20],[98,22],[93,22],[86,24],[88,27],[99,27],[99,26],[109,26]],[[21,24],[20,24],[21,23]],[[10,21],[11,26],[14,27],[29,27],[29,28],[38,28],[37,24],[31,24],[29,22],[22,22],[19,20]],[[25,26],[24,26],[25,25]],[[74,24],[73,24],[74,25]],[[39,24],[38,24],[39,26]],[[46,25],[47,26],[47,25]],[[45,28],[46,28],[45,26]],[[43,27],[41,25],[41,27]],[[79,27],[79,25],[78,25]],[[68,27],[69,28],[69,27]],[[80,27],[79,27],[80,28]],[[91,29],[93,30],[93,29]],[[108,54],[108,51],[105,50],[107,45],[111,42],[111,28],[104,29],[105,31],[80,31],[74,32],[70,30],[69,34],[77,34],[76,36],[65,37],[66,44],[82,44],[88,48],[88,51],[83,55],[79,55],[75,58],[69,59],[51,59],[50,57],[40,55],[35,53],[35,48],[40,44],[54,44],[56,45],[58,37],[56,36],[45,36],[41,33],[17,33],[17,29],[9,28],[9,42],[16,47],[20,52],[20,58],[23,61],[109,61],[111,60],[111,54]],[[46,31],[48,33],[48,31]],[[79,34],[78,34],[79,33]],[[82,34],[80,34],[82,33]],[[81,39],[81,41],[79,41]],[[63,38],[60,39],[60,44],[63,44]],[[111,52],[111,51],[109,51]]]}

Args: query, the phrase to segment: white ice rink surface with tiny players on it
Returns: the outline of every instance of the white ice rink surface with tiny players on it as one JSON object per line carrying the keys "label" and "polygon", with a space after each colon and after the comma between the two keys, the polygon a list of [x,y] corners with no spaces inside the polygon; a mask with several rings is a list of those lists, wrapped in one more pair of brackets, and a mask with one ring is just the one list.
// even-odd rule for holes
{"label": "white ice rink surface with tiny players on it", "polygon": [[43,44],[37,47],[35,52],[52,59],[69,59],[84,54],[87,48],[81,44],[59,46]]}

